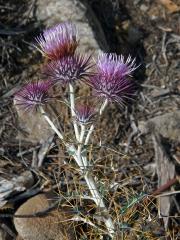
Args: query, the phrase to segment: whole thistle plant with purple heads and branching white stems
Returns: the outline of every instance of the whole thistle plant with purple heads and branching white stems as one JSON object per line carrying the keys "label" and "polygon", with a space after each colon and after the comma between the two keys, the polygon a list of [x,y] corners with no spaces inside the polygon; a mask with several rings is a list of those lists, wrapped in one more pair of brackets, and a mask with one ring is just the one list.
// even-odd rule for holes
{"label": "whole thistle plant with purple heads and branching white stems", "polygon": [[[115,236],[116,228],[108,213],[96,181],[89,171],[88,145],[95,129],[95,118],[101,116],[109,102],[125,105],[134,97],[135,84],[131,74],[137,68],[135,59],[120,55],[100,53],[97,61],[91,56],[77,53],[79,41],[76,27],[69,22],[45,30],[37,37],[37,49],[48,59],[43,68],[44,80],[28,83],[14,96],[15,104],[24,111],[40,111],[71,155],[79,171],[83,174],[92,199],[102,211],[109,236]],[[100,107],[75,102],[75,84],[77,81],[89,85],[93,90],[92,98],[100,100]],[[50,89],[56,85],[68,88],[67,106],[70,108],[74,139],[68,142],[64,133],[54,124],[44,105],[51,99]]]}

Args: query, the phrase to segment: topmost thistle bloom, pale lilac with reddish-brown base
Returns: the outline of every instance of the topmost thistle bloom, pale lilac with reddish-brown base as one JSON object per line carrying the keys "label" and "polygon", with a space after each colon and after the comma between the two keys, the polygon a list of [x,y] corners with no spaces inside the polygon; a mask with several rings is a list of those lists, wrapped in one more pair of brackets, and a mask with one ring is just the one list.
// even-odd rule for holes
{"label": "topmost thistle bloom, pale lilac with reddish-brown base", "polygon": [[77,31],[71,22],[64,22],[45,30],[36,38],[38,49],[51,60],[73,55],[77,46]]}

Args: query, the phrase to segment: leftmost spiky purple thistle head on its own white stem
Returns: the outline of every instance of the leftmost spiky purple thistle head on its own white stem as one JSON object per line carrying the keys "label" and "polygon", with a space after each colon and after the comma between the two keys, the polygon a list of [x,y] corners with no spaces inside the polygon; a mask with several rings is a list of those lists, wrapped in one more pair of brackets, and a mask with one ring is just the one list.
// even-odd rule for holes
{"label": "leftmost spiky purple thistle head on its own white stem", "polygon": [[14,96],[16,105],[25,111],[37,110],[42,104],[46,104],[50,99],[48,90],[52,86],[52,81],[36,81],[26,84]]}

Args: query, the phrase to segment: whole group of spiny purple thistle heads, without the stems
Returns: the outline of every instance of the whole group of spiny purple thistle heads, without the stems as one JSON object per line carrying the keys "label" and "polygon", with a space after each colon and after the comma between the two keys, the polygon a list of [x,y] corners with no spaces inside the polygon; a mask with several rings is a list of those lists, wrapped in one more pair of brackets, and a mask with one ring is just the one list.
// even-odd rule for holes
{"label": "whole group of spiny purple thistle heads, without the stems", "polygon": [[[122,55],[100,54],[97,71],[93,73],[91,56],[76,53],[77,31],[70,22],[45,30],[36,40],[40,51],[49,59],[43,71],[49,80],[28,83],[16,93],[15,103],[25,110],[37,109],[47,103],[50,99],[48,91],[53,84],[72,84],[76,80],[86,80],[98,97],[121,105],[133,97],[135,84],[131,74],[137,66],[130,56],[125,60]],[[94,109],[79,106],[76,116],[81,123],[89,122]]]}

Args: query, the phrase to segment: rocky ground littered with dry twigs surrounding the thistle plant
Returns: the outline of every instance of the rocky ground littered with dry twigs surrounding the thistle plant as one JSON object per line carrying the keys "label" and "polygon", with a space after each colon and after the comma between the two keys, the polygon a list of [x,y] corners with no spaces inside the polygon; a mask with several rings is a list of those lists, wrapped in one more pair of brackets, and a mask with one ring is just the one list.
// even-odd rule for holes
{"label": "rocky ground littered with dry twigs surrounding the thistle plant", "polygon": [[[26,209],[22,204],[27,199],[32,201],[31,206],[38,201],[39,208],[32,214],[44,210],[42,205],[49,205],[47,197],[40,195],[42,192],[53,191],[53,199],[64,196],[67,214],[59,211],[60,222],[72,218],[69,214],[72,206],[81,206],[83,217],[90,213],[91,221],[92,215],[96,215],[92,202],[69,200],[73,191],[82,193],[87,189],[75,165],[65,164],[67,156],[56,137],[39,124],[38,118],[29,115],[18,118],[13,105],[13,95],[19,87],[40,76],[42,58],[33,46],[34,38],[42,29],[65,20],[78,27],[80,51],[91,52],[95,58],[99,49],[131,54],[140,64],[135,74],[139,86],[136,101],[123,110],[117,105],[109,106],[97,123],[92,144],[97,159],[92,171],[118,223],[117,239],[180,238],[179,12],[178,0],[1,1],[0,239],[16,238],[20,231],[17,225],[22,223],[13,216],[20,206]],[[88,89],[78,86],[77,92],[88,93]],[[66,124],[67,111],[59,110],[59,105],[56,111],[63,112],[62,121]],[[67,133],[68,130],[69,127]],[[50,141],[44,142],[47,136],[51,136]],[[41,168],[37,162],[43,162]],[[31,215],[29,205],[27,208],[24,214]],[[57,217],[56,211],[46,218]],[[27,225],[22,219],[25,231],[30,227],[37,231],[32,222],[38,222],[41,219],[38,217],[33,221],[26,218]],[[99,224],[97,219],[94,221]],[[73,232],[66,227],[68,233],[63,238],[61,225],[57,236],[108,239],[88,224],[71,224]],[[56,231],[54,225],[48,228]],[[52,239],[43,238],[43,234],[33,235],[32,239]]]}

